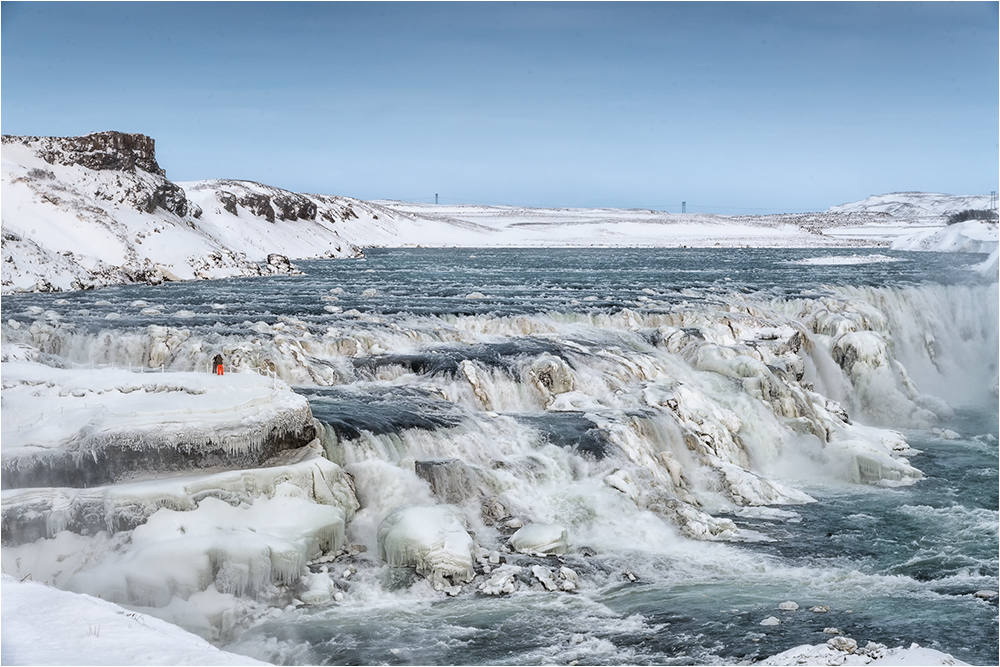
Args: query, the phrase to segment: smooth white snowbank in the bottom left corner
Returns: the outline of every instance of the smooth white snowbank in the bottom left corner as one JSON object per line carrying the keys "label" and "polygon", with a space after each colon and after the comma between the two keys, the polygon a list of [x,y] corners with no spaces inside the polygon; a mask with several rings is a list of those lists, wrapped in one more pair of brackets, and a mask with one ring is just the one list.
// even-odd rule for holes
{"label": "smooth white snowbank in the bottom left corner", "polygon": [[266,665],[89,595],[3,575],[5,665]]}

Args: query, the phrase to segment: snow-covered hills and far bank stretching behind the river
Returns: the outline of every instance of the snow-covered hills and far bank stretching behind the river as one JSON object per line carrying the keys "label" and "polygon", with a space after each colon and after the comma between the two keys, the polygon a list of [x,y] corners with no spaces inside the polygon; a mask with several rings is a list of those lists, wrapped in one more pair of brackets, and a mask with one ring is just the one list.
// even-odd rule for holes
{"label": "snow-covered hills and far bank stretching behind the river", "polygon": [[[173,183],[140,134],[3,137],[2,291],[294,270],[366,246],[887,246],[988,208],[988,196],[893,193],[783,215],[366,202],[250,181]],[[270,259],[269,259],[270,258]]]}

